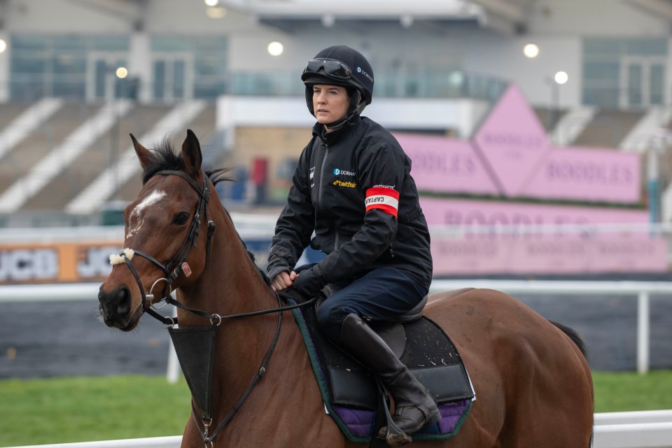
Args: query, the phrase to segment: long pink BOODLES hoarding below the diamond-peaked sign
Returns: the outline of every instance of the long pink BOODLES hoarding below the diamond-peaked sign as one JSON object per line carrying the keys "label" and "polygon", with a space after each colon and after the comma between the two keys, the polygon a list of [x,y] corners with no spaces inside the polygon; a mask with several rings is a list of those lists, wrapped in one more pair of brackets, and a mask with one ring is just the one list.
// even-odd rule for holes
{"label": "long pink BOODLES hoarding below the diamond-peaked sign", "polygon": [[[642,232],[645,226],[637,229],[637,224],[647,223],[644,210],[430,197],[421,198],[421,207],[432,232],[437,276],[667,270],[667,240]],[[566,229],[590,224],[633,226],[610,233]],[[456,229],[461,231],[445,231]],[[491,232],[483,231],[487,229]]]}

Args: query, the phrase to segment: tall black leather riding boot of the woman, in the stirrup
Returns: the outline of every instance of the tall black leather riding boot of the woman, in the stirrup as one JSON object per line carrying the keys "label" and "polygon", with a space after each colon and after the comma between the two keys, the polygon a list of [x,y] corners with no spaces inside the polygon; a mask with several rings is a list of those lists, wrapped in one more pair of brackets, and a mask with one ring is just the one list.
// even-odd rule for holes
{"label": "tall black leather riding boot of the woman, in the stirrup", "polygon": [[[441,419],[433,396],[359,316],[346,316],[337,345],[381,379],[394,398],[392,419],[404,433],[414,433]],[[410,437],[393,437],[386,428],[381,433],[388,434],[387,443],[392,446],[411,441]]]}

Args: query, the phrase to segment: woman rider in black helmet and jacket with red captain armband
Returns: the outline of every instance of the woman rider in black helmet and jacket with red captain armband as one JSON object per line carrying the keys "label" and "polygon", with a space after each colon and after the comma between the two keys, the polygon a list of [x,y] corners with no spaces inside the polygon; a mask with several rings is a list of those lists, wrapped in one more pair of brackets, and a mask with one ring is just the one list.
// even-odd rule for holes
{"label": "woman rider in black helmet and jacket with red captain armband", "polygon": [[[428,293],[430,237],[411,162],[384,127],[360,116],[374,79],[363,55],[345,45],[325,48],[301,79],[317,123],[278,219],[267,273],[274,290],[293,287],[309,297],[337,286],[318,309],[319,325],[377,374],[393,396],[394,423],[414,433],[440,419],[436,400],[367,325],[395,321]],[[308,245],[326,257],[294,270]]]}

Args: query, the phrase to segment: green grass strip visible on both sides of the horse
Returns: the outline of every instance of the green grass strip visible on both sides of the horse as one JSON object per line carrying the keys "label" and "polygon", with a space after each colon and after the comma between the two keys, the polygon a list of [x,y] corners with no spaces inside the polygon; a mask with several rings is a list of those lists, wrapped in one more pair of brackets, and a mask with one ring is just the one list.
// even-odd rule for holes
{"label": "green grass strip visible on both sides of the horse", "polygon": [[[595,412],[672,409],[672,370],[593,375]],[[165,377],[0,380],[0,447],[179,435],[189,396]]]}

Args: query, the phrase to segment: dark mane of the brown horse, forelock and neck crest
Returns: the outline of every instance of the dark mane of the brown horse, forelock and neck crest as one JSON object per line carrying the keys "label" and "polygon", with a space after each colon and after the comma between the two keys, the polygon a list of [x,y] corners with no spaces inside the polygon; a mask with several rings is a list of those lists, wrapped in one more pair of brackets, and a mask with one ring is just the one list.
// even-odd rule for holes
{"label": "dark mane of the brown horse, forelock and neck crest", "polygon": [[[148,164],[144,167],[144,170],[141,175],[142,184],[144,185],[149,179],[151,179],[155,174],[162,171],[185,171],[186,164],[182,158],[182,154],[175,150],[170,136],[164,137],[162,141],[159,142],[158,146],[153,148],[153,157],[149,160]],[[214,186],[223,181],[233,182],[235,179],[228,176],[230,168],[218,168],[218,169],[209,169],[205,170],[205,175],[208,176],[210,181]],[[224,211],[231,218],[229,211],[225,208]],[[237,232],[236,232],[237,233]],[[238,233],[237,233],[238,235]],[[258,267],[257,263],[254,260],[254,254],[249,251],[245,241],[238,235],[243,248],[245,249],[247,256],[253,262],[257,268],[261,278],[264,282],[270,286],[271,281],[266,275],[266,272]]]}

